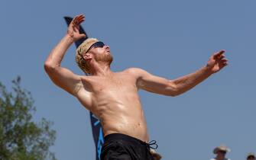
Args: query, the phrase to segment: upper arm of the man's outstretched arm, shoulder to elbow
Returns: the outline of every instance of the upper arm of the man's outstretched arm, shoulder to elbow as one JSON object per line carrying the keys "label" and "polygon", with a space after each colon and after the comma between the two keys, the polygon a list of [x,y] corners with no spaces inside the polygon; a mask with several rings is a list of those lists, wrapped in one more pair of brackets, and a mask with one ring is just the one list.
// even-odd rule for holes
{"label": "upper arm of the man's outstretched arm, shoulder to elbow", "polygon": [[138,79],[139,88],[150,91],[156,94],[171,95],[175,94],[176,88],[172,80],[162,78],[156,75],[151,75],[146,71],[141,71],[141,76]]}

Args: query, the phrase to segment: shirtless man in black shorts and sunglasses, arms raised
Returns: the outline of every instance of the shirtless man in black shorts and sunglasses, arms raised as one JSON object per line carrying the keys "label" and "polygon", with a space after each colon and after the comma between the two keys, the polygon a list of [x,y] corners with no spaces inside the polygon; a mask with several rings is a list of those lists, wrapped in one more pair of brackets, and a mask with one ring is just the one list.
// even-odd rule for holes
{"label": "shirtless man in black shorts and sunglasses, arms raised", "polygon": [[79,24],[84,20],[83,14],[73,18],[66,35],[44,63],[44,69],[55,85],[72,94],[99,118],[105,139],[101,159],[152,159],[138,90],[169,96],[183,94],[227,65],[225,51],[214,53],[206,66],[196,72],[169,80],[138,68],[112,72],[109,46],[89,38],[77,48],[76,62],[90,75],[75,75],[60,63],[66,50],[86,36],[79,34]]}

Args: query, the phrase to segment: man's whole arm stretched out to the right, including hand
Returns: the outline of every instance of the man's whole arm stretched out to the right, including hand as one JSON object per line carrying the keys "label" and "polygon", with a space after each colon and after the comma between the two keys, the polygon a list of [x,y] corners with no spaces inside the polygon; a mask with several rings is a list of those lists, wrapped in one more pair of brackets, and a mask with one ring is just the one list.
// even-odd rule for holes
{"label": "man's whole arm stretched out to the right, including hand", "polygon": [[170,96],[177,96],[189,91],[191,88],[203,82],[206,78],[215,72],[219,72],[223,67],[228,65],[228,60],[225,59],[225,51],[221,50],[218,53],[214,53],[207,65],[180,78],[168,80],[166,78],[160,78],[155,75],[151,75],[142,69],[136,69],[138,78],[138,87],[146,91],[151,91],[157,94],[164,94]]}

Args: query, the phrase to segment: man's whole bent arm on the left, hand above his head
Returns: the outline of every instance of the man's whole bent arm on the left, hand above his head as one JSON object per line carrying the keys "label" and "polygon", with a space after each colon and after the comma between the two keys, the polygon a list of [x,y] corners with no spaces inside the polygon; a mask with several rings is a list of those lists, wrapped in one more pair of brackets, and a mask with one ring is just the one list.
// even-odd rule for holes
{"label": "man's whole bent arm on the left, hand above his head", "polygon": [[55,46],[44,62],[44,69],[53,83],[75,96],[81,86],[80,76],[75,75],[69,69],[61,67],[60,64],[70,45],[76,40],[86,36],[85,34],[79,34],[79,24],[81,24],[84,19],[83,14],[73,18],[66,35],[60,40],[60,43]]}

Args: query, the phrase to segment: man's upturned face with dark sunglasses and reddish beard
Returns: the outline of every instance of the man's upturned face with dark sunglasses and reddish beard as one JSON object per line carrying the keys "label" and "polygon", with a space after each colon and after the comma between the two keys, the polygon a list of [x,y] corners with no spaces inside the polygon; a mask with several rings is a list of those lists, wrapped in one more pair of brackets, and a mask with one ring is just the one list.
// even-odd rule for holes
{"label": "man's upturned face with dark sunglasses and reddish beard", "polygon": [[92,44],[92,47],[87,53],[92,54],[92,57],[96,59],[96,62],[107,62],[110,65],[113,60],[112,54],[110,53],[110,47],[102,42]]}

